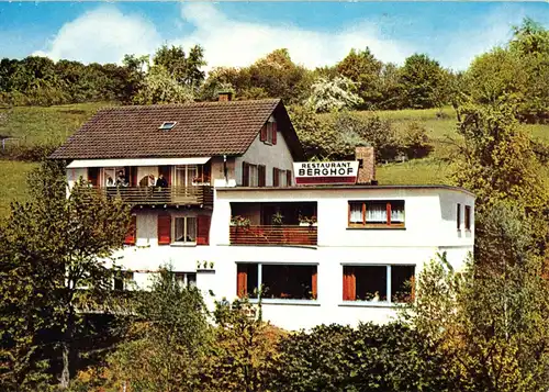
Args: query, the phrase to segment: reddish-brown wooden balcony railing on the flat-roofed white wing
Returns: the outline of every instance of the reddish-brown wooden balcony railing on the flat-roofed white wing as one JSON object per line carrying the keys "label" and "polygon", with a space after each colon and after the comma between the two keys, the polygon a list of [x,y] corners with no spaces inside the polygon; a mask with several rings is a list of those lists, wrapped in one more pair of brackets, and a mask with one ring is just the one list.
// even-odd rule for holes
{"label": "reddish-brown wooden balcony railing on the flat-roofed white wing", "polygon": [[316,226],[231,226],[231,245],[316,245]]}

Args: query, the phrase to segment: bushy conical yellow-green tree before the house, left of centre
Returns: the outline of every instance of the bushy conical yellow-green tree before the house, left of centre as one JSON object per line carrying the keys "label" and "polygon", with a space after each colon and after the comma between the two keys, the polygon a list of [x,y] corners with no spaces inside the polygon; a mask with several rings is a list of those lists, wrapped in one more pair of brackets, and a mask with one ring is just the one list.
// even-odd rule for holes
{"label": "bushy conical yellow-green tree before the house, left of centre", "polygon": [[183,287],[167,266],[150,290],[135,293],[128,339],[110,356],[110,384],[136,391],[194,391],[206,360],[211,326],[199,290]]}

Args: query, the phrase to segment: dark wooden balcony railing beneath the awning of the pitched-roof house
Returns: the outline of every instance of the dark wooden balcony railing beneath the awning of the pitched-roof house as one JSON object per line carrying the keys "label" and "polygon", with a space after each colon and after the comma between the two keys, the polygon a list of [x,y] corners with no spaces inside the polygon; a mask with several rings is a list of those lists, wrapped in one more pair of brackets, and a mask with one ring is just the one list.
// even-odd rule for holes
{"label": "dark wooden balcony railing beneath the awning of the pitched-roof house", "polygon": [[120,195],[130,204],[198,204],[213,205],[213,192],[209,186],[192,187],[112,187],[99,188],[110,197]]}

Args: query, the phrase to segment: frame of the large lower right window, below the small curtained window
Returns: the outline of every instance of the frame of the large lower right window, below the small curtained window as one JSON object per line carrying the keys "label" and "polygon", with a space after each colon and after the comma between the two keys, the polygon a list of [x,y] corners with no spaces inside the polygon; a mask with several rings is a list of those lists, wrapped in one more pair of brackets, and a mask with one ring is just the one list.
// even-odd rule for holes
{"label": "frame of the large lower right window, below the small curtained window", "polygon": [[[345,299],[345,270],[346,268],[372,268],[372,267],[384,267],[385,268],[385,292],[384,296],[386,300],[384,301],[368,301],[368,300],[347,300]],[[412,301],[415,301],[415,279],[416,279],[416,270],[417,265],[414,264],[341,264],[341,303],[344,305],[356,305],[356,306],[394,306],[399,304],[407,303],[405,301],[393,301],[393,289],[392,289],[392,269],[397,267],[413,267],[414,273],[412,276],[412,288],[411,288],[411,298]],[[356,278],[355,278],[356,279]],[[357,288],[357,283],[355,281],[355,291]],[[381,293],[380,293],[381,294]],[[382,295],[380,295],[382,296]]]}

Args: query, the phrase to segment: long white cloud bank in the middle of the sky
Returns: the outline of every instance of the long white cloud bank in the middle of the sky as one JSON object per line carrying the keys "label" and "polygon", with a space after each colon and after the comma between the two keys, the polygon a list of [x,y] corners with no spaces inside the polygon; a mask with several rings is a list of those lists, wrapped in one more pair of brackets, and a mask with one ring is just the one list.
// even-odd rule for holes
{"label": "long white cloud bank in the middle of the sky", "polygon": [[184,47],[200,44],[206,53],[209,68],[214,66],[246,66],[259,57],[285,47],[295,63],[306,67],[333,65],[352,48],[369,46],[383,61],[402,63],[414,51],[410,45],[380,37],[368,23],[327,33],[289,25],[268,25],[264,22],[239,22],[227,19],[210,3],[186,3],[181,16],[194,26],[173,44]]}

